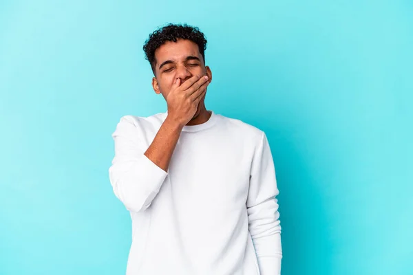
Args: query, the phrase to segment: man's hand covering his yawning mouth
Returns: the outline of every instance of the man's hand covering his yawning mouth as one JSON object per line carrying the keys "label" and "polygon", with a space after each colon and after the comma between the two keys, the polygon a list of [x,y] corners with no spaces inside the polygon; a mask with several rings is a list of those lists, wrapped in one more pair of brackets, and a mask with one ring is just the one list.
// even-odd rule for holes
{"label": "man's hand covering his yawning mouth", "polygon": [[180,126],[186,125],[195,115],[198,103],[209,85],[207,76],[192,76],[182,85],[178,78],[172,85],[166,100],[168,116]]}

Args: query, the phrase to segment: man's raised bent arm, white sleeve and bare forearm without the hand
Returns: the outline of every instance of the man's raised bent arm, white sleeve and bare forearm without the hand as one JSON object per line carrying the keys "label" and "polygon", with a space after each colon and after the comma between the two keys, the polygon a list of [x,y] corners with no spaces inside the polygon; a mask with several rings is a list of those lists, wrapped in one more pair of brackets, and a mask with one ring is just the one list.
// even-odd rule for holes
{"label": "man's raised bent arm, white sleeve and bare forearm without the hand", "polygon": [[114,193],[127,210],[139,212],[151,205],[167,177],[167,169],[182,126],[168,118],[144,153],[140,133],[131,118],[123,117],[112,134],[115,157],[109,168]]}

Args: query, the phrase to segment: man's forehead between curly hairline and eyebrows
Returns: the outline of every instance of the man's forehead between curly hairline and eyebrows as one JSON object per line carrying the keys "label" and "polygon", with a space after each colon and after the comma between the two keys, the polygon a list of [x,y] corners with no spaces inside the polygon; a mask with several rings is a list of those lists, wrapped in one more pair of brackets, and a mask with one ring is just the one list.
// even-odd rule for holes
{"label": "man's forehead between curly hairline and eyebrows", "polygon": [[198,56],[201,59],[198,45],[183,39],[179,39],[176,42],[167,41],[155,51],[156,63],[158,65],[167,60],[182,61],[187,56]]}

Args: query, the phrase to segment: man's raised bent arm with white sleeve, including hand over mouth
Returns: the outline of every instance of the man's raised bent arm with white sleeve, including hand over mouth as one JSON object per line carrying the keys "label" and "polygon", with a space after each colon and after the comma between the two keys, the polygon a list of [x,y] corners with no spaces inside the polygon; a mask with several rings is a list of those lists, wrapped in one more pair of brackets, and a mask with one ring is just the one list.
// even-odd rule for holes
{"label": "man's raised bent arm with white sleeve, including hand over mouth", "polygon": [[145,210],[158,195],[182,128],[195,115],[208,85],[207,78],[202,76],[193,76],[182,85],[180,78],[174,81],[167,96],[167,118],[146,151],[140,143],[140,127],[127,116],[118,123],[112,134],[115,157],[109,179],[127,210]]}

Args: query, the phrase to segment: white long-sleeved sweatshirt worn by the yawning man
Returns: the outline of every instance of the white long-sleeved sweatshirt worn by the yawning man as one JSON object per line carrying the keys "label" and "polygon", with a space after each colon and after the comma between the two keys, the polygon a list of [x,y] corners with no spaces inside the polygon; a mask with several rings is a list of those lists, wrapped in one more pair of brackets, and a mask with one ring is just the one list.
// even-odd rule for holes
{"label": "white long-sleeved sweatshirt worn by the yawning man", "polygon": [[182,129],[167,172],[144,153],[167,117],[126,115],[112,134],[114,193],[129,210],[127,275],[276,275],[281,227],[266,135],[211,112]]}

